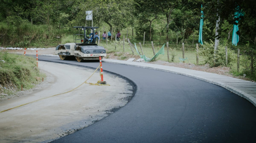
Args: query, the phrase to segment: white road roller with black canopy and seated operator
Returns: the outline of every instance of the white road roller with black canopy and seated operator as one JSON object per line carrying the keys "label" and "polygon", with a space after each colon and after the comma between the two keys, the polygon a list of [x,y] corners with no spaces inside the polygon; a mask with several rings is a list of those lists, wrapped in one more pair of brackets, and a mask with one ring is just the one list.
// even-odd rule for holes
{"label": "white road roller with black canopy and seated operator", "polygon": [[99,56],[101,58],[107,56],[105,48],[96,44],[99,39],[95,35],[95,30],[99,27],[74,26],[74,28],[77,29],[77,33],[74,34],[74,43],[56,47],[55,54],[58,54],[61,60],[76,57],[76,60],[81,62],[83,60],[98,60]]}

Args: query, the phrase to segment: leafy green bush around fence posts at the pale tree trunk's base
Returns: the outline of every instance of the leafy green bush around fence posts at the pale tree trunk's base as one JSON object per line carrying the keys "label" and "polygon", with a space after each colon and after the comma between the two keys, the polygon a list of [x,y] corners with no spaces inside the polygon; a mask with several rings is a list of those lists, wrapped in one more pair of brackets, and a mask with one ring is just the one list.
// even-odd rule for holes
{"label": "leafy green bush around fence posts at the pale tree trunk's base", "polygon": [[[228,48],[227,53],[227,63],[234,62],[236,60],[235,51]],[[214,42],[211,40],[210,43],[204,42],[203,48],[199,50],[199,54],[204,56],[205,63],[209,63],[210,67],[226,66],[226,50],[224,45],[220,44],[218,46],[218,50],[214,56]]]}

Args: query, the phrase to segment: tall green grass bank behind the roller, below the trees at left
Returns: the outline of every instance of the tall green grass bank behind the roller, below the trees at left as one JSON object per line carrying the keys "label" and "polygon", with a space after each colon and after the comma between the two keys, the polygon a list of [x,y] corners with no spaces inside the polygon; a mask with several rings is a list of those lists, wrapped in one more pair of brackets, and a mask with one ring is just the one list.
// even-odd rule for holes
{"label": "tall green grass bank behind the roller, below the trees at left", "polygon": [[[31,25],[24,23],[19,26],[0,22],[0,45],[3,47],[56,47],[65,35],[73,34],[72,30],[58,29],[52,25]],[[73,36],[72,36],[73,41]]]}

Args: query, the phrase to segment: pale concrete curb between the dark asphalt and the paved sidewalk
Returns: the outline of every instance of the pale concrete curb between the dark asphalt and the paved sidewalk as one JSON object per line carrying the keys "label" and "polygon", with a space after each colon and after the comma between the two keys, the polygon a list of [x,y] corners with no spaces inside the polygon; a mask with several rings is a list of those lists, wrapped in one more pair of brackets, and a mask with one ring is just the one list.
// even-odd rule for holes
{"label": "pale concrete curb between the dark asphalt and the paved sidewalk", "polygon": [[225,88],[225,89],[227,89],[227,90],[229,90],[229,91],[231,91],[231,92],[233,92],[233,93],[235,93],[235,94],[245,98],[246,100],[251,102],[256,107],[256,98],[252,97],[250,94],[248,94],[248,93],[246,93],[244,91],[241,91],[241,90],[239,90],[239,89],[237,89],[237,88],[235,88],[233,86],[230,86],[230,85],[228,85],[226,83],[223,83],[223,82],[211,80],[211,79],[204,78],[204,77],[197,76],[197,75],[193,75],[193,74],[188,74],[188,73],[183,73],[183,72],[174,72],[174,71],[165,70],[165,69],[162,69],[162,68],[153,68],[153,67],[150,67],[150,66],[139,66],[139,65],[129,64],[129,63],[112,62],[112,61],[104,61],[104,60],[102,60],[102,62],[115,63],[115,64],[123,64],[123,65],[147,68],[147,69],[158,70],[158,71],[163,71],[163,72],[170,72],[170,73],[185,75],[185,76],[192,77],[192,78],[195,78],[195,79],[198,79],[198,80],[206,81],[206,82],[209,82],[209,83],[221,86],[221,87],[223,87],[223,88]]}

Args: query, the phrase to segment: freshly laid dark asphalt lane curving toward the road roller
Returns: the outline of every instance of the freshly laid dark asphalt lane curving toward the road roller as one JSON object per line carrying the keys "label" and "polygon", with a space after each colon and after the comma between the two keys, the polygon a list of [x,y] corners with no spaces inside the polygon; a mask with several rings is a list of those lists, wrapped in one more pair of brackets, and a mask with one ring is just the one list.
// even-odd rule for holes
{"label": "freshly laid dark asphalt lane curving toward the road roller", "polygon": [[[99,65],[57,57],[39,59],[93,68]],[[102,64],[103,70],[134,81],[134,98],[110,116],[53,143],[256,142],[256,108],[242,97],[179,74]]]}

